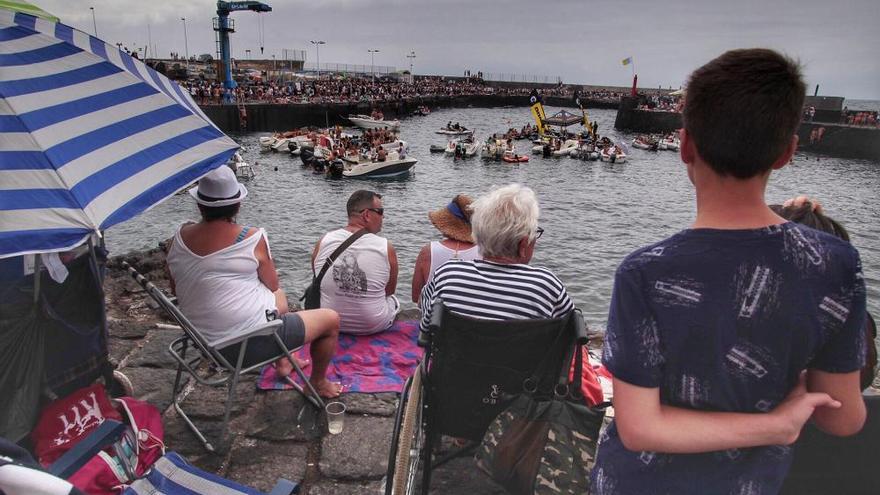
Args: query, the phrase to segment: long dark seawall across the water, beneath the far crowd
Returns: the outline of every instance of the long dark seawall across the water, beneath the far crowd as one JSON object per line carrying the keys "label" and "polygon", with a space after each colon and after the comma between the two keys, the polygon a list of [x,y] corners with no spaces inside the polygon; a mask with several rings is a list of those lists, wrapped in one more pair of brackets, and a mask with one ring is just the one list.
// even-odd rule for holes
{"label": "long dark seawall across the water, beneath the far crowd", "polygon": [[[549,106],[573,107],[571,98],[549,96],[544,98]],[[348,125],[346,117],[350,114],[369,114],[373,109],[382,110],[385,118],[395,119],[410,115],[419,105],[428,108],[465,107],[527,107],[528,96],[440,96],[424,98],[404,98],[396,101],[363,103],[296,103],[290,105],[249,104],[247,125],[242,128],[238,107],[235,105],[205,105],[202,111],[221,130],[226,132],[274,132],[296,129],[304,126],[326,127],[336,124]],[[617,103],[586,101],[587,108],[617,108]]]}

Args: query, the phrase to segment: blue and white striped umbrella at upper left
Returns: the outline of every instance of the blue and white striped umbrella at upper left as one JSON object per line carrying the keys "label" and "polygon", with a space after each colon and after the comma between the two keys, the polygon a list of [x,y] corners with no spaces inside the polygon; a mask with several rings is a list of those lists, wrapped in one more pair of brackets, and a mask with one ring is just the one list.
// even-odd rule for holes
{"label": "blue and white striped umbrella at upper left", "polygon": [[61,251],[238,148],[189,93],[115,46],[0,10],[0,258]]}

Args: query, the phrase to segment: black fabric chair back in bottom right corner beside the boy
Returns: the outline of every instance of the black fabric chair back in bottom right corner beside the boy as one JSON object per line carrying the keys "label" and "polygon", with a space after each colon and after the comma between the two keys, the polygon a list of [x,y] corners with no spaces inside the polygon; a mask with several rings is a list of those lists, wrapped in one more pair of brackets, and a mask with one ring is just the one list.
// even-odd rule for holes
{"label": "black fabric chair back in bottom right corner beside the boy", "polygon": [[794,462],[782,495],[876,495],[877,447],[880,446],[880,396],[866,395],[868,417],[862,431],[835,437],[808,424],[794,444]]}

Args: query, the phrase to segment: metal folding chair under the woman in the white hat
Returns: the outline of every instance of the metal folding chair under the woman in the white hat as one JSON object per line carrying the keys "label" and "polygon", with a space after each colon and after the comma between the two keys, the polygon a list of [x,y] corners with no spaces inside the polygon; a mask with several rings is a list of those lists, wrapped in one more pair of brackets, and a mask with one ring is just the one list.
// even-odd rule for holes
{"label": "metal folding chair under the woman in the white hat", "polygon": [[[143,275],[138,273],[131,265],[127,262],[123,261],[122,266],[128,270],[129,274],[144,288],[144,290],[157,302],[159,306],[162,307],[175,321],[180,325],[180,328],[183,329],[183,336],[171,342],[171,345],[168,346],[168,352],[177,361],[177,376],[174,379],[174,388],[172,389],[172,404],[174,405],[174,409],[180,414],[180,417],[186,422],[187,426],[196,434],[199,440],[204,444],[205,448],[214,452],[214,446],[211,445],[210,442],[205,438],[201,431],[196,427],[196,425],[190,420],[189,416],[184,412],[183,408],[180,405],[180,393],[183,391],[183,385],[181,384],[181,376],[184,371],[192,375],[195,380],[202,385],[209,386],[219,386],[226,385],[227,386],[227,394],[226,394],[226,408],[223,413],[223,423],[220,426],[220,434],[219,439],[222,441],[226,435],[226,428],[229,425],[229,416],[232,412],[232,404],[235,401],[235,388],[238,385],[239,377],[244,373],[250,373],[253,371],[260,370],[263,366],[272,363],[284,356],[293,363],[294,371],[297,375],[302,379],[303,383],[309,389],[310,394],[306,394],[303,388],[297,384],[290,377],[287,378],[288,382],[293,385],[300,393],[302,393],[306,399],[309,400],[312,404],[319,408],[319,410],[324,409],[324,401],[321,400],[321,397],[318,395],[318,392],[312,387],[312,384],[309,382],[308,377],[306,377],[305,373],[303,373],[302,369],[296,364],[296,361],[293,359],[293,353],[296,352],[297,349],[288,349],[284,342],[281,340],[281,337],[278,335],[278,329],[281,327],[281,320],[274,320],[266,322],[264,325],[259,325],[254,327],[247,332],[236,335],[232,337],[228,337],[221,341],[218,341],[214,344],[209,344],[204,337],[202,337],[199,330],[187,319],[186,316],[180,311],[180,309],[172,303],[168,297],[162,292],[161,289],[153,285],[152,282],[147,280]],[[258,363],[251,364],[249,366],[244,366],[244,355],[247,350],[248,341],[253,337],[260,337],[264,335],[272,335],[275,337],[275,341],[278,343],[278,354],[273,356],[270,359],[266,359],[264,361],[260,361]],[[230,363],[219,351],[226,347],[235,344],[241,344],[241,348],[238,352],[238,359],[235,364]],[[194,348],[195,352],[190,353],[187,356],[187,351],[190,348]],[[220,372],[213,373],[210,371],[205,371],[205,367],[202,366],[203,362],[207,361],[209,369],[220,370]],[[225,371],[225,373],[224,373]]]}

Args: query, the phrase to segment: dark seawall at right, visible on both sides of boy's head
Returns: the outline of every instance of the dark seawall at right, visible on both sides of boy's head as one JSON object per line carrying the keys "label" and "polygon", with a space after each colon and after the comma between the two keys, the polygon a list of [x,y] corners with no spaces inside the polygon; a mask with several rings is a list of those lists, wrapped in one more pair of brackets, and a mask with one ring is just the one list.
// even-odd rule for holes
{"label": "dark seawall at right, visible on both sides of boy's head", "polygon": [[[623,98],[614,120],[620,131],[659,133],[681,128],[681,114],[636,110],[636,98]],[[814,128],[824,127],[821,141],[810,144]],[[840,158],[865,158],[880,161],[880,128],[858,127],[826,122],[803,122],[798,128],[800,149]]]}

